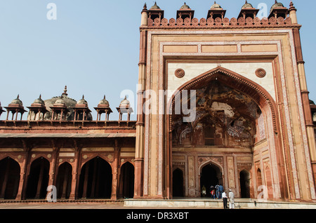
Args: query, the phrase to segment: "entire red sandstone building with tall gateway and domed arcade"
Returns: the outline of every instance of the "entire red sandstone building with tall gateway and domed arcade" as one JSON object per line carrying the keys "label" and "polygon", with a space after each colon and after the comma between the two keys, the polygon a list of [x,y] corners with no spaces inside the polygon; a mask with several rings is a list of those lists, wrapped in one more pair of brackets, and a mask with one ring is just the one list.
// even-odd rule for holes
{"label": "entire red sandstone building with tall gateway and domed arcade", "polygon": [[[105,97],[94,120],[84,96],[77,102],[67,88],[35,100],[27,121],[20,97],[4,107],[0,198],[44,199],[48,185],[68,200],[199,198],[202,187],[209,196],[222,184],[236,198],[315,201],[316,107],[296,8],[276,1],[260,19],[246,1],[237,18],[225,12],[213,4],[198,19],[184,4],[167,19],[157,4],[144,6],[137,121],[127,99],[110,121]],[[162,113],[143,110],[147,90],[171,91],[149,99]],[[196,93],[189,122],[175,111],[178,102],[191,103],[185,90]]]}

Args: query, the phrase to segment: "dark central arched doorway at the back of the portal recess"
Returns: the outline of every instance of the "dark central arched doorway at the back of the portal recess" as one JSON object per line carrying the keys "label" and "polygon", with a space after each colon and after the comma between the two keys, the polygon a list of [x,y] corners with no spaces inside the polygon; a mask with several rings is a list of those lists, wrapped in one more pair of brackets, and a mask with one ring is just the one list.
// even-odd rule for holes
{"label": "dark central arched doorway at the back of the portal recess", "polygon": [[216,185],[223,185],[223,178],[220,168],[218,168],[218,166],[214,165],[213,163],[204,165],[200,174],[200,191],[202,193],[202,188],[205,187],[206,197],[211,196],[212,187],[215,189]]}

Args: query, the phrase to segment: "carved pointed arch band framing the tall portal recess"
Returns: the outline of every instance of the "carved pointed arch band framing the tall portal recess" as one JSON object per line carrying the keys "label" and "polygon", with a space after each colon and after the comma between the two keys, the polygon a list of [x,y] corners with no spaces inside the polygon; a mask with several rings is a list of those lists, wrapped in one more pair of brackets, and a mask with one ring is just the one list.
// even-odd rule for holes
{"label": "carved pointed arch band framing the tall portal recess", "polygon": [[[228,86],[240,93],[248,96],[251,100],[258,105],[258,108],[261,109],[260,112],[263,112],[265,121],[268,123],[267,130],[267,138],[268,147],[271,154],[272,160],[272,181],[275,183],[277,187],[276,197],[286,197],[287,196],[287,180],[286,178],[286,170],[284,165],[284,154],[282,152],[282,137],[280,137],[280,123],[279,120],[279,112],[277,109],[277,104],[274,98],[265,90],[262,86],[258,85],[254,81],[247,79],[246,77],[237,74],[236,72],[232,72],[229,69],[225,69],[223,67],[216,67],[214,69],[209,70],[208,72],[204,72],[199,76],[196,76],[194,79],[187,81],[182,86],[180,86],[174,93],[169,97],[168,104],[166,104],[166,150],[168,154],[168,162],[172,167],[172,138],[173,138],[173,116],[175,114],[175,104],[181,100],[181,95],[183,90],[196,90],[202,89],[207,83],[211,83],[211,81],[219,81],[223,83],[225,86]],[[187,102],[188,104],[188,102]],[[172,188],[172,173],[169,168],[169,178],[167,179],[169,182],[167,184]],[[199,170],[200,172],[200,170]]]}

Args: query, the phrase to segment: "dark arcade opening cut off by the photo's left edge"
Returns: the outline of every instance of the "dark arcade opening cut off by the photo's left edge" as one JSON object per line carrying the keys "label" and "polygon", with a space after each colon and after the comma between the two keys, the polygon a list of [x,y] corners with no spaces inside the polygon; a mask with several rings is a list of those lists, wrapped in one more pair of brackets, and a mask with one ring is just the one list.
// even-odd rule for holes
{"label": "dark arcade opening cut off by the photo's left edge", "polygon": [[15,199],[20,182],[20,165],[13,158],[0,161],[0,199]]}

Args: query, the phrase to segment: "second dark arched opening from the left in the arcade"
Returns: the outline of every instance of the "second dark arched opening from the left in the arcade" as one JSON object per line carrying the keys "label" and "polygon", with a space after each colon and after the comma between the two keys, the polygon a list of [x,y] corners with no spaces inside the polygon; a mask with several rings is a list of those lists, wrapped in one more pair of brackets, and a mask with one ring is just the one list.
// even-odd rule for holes
{"label": "second dark arched opening from the left in the arcade", "polygon": [[32,162],[27,177],[26,198],[44,199],[47,194],[49,161],[40,157]]}

